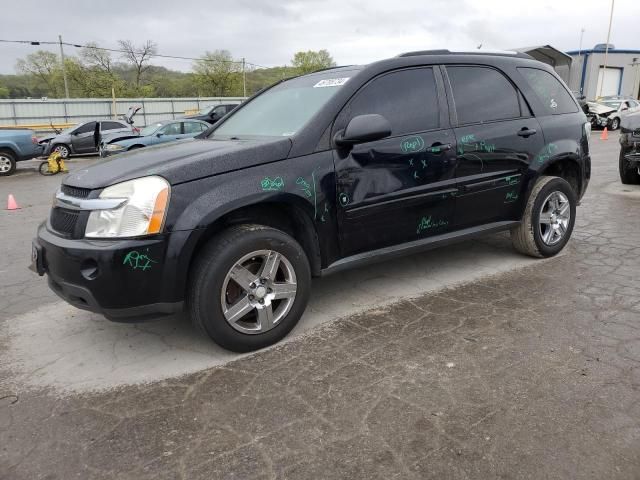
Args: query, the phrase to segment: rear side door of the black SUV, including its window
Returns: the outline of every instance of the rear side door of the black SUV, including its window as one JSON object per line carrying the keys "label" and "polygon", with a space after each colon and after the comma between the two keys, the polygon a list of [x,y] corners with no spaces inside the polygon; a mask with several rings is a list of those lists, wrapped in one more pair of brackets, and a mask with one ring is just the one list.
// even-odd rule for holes
{"label": "rear side door of the black SUV, including its window", "polygon": [[542,130],[512,82],[478,65],[446,67],[457,140],[456,228],[516,220]]}

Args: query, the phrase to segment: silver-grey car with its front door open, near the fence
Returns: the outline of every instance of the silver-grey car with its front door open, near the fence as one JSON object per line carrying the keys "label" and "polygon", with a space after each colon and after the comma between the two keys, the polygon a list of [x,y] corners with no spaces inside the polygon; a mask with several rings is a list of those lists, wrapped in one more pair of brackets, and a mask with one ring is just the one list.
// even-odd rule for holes
{"label": "silver-grey car with its front door open, near the fence", "polygon": [[99,137],[96,135],[96,126],[99,135],[105,136],[114,133],[133,134],[133,126],[124,120],[91,120],[69,127],[59,134],[40,140],[44,147],[44,154],[58,152],[62,158],[81,153],[97,153]]}

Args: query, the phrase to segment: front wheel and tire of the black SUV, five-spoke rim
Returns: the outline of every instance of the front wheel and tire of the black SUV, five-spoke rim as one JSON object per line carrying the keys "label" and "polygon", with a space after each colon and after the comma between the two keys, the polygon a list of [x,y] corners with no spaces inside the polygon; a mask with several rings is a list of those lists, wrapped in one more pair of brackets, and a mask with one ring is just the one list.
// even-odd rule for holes
{"label": "front wheel and tire of the black SUV, five-spoke rim", "polygon": [[[264,274],[267,281],[261,284],[260,272],[267,259],[277,258],[274,252],[280,255],[276,275]],[[198,253],[189,276],[187,308],[194,326],[218,345],[248,352],[272,345],[291,331],[307,306],[310,286],[309,260],[295,239],[274,228],[240,225]],[[275,298],[277,292],[282,298]],[[236,318],[228,321],[234,308]]]}

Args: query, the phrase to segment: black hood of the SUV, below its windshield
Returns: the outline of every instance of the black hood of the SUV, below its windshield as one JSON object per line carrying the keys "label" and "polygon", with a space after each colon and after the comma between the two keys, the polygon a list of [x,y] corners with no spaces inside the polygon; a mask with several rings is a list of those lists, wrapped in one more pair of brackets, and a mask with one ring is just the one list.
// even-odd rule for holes
{"label": "black hood of the SUV, below its windshield", "polygon": [[160,175],[175,185],[283,160],[290,150],[288,138],[187,139],[119,154],[113,160],[68,175],[64,184],[95,189],[147,175]]}

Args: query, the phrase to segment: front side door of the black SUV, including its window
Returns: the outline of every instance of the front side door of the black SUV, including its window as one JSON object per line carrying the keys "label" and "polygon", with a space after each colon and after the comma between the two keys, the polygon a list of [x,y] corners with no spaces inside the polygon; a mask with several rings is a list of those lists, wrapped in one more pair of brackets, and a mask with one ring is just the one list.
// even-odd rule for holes
{"label": "front side door of the black SUV, including its window", "polygon": [[421,240],[453,225],[455,140],[440,70],[375,77],[345,105],[333,135],[352,118],[374,113],[390,122],[390,137],[334,150],[343,255]]}

